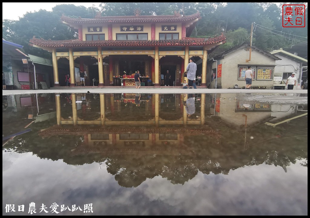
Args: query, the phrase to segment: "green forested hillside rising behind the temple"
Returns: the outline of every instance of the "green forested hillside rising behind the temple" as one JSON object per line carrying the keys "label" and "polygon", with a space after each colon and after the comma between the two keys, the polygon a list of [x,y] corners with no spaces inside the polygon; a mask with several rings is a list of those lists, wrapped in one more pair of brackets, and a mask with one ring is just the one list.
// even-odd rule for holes
{"label": "green forested hillside rising behind the temple", "polygon": [[[305,5],[305,27],[282,27],[282,5]],[[253,24],[252,44],[262,50],[272,51],[287,48],[298,43],[308,46],[308,3],[283,2],[102,2],[98,8],[61,4],[52,11],[39,10],[27,12],[19,20],[2,20],[2,38],[24,46],[27,54],[51,58],[51,53],[29,46],[29,40],[36,38],[68,40],[78,38],[77,29],[63,24],[60,17],[94,18],[101,16],[134,16],[135,9],[140,15],[182,16],[201,14],[191,37],[209,38],[224,33],[226,43],[219,46],[210,57],[236,47],[243,42],[250,42]]]}

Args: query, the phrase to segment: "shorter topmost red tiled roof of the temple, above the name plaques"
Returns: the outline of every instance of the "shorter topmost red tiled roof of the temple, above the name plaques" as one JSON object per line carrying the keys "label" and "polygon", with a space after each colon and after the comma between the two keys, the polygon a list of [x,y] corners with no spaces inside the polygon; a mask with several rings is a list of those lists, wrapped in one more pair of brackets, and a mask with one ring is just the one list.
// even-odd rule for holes
{"label": "shorter topmost red tiled roof of the temple, above the name plaques", "polygon": [[95,18],[70,18],[62,15],[61,20],[74,24],[94,24],[94,23],[149,23],[149,22],[185,22],[200,19],[200,13],[189,16],[176,15],[156,15],[156,16],[95,16]]}

